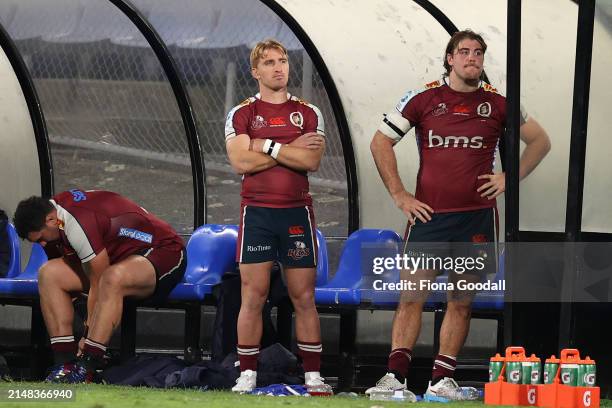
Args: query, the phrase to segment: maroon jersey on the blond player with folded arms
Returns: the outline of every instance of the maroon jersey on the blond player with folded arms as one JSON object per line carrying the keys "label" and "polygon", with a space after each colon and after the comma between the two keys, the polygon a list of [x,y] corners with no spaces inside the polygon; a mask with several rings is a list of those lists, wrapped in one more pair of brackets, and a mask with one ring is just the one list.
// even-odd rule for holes
{"label": "maroon jersey on the blond player with folded arms", "polygon": [[[234,107],[227,115],[225,141],[241,134],[251,139],[290,143],[299,136],[317,132],[325,135],[319,109],[295,96],[287,102],[264,102],[259,94]],[[267,170],[242,176],[242,205],[291,208],[312,205],[308,174],[278,164]]]}

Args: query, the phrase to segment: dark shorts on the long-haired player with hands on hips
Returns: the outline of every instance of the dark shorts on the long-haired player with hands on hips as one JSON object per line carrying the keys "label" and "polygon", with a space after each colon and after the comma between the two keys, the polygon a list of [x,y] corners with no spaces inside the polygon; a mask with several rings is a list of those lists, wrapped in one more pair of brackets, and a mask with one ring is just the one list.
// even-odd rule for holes
{"label": "dark shorts on the long-haired player with hands on hips", "polygon": [[[497,231],[496,208],[434,213],[431,221],[423,223],[417,219],[412,227],[407,226],[404,252],[416,256],[450,257],[455,266],[472,258],[476,262],[473,267],[466,269],[465,265],[459,266],[458,273],[484,276],[497,270]],[[431,262],[431,265],[440,264]],[[438,267],[427,269],[435,269],[439,273],[451,270]]]}

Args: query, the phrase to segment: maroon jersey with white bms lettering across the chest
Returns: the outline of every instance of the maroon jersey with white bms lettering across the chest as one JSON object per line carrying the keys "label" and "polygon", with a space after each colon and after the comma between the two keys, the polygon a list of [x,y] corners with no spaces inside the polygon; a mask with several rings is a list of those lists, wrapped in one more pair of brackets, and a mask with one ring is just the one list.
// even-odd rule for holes
{"label": "maroon jersey with white bms lettering across the chest", "polygon": [[[380,130],[398,142],[416,128],[420,167],[415,196],[435,212],[495,207],[495,200],[476,190],[488,181],[478,176],[493,172],[506,126],[506,99],[485,82],[476,91],[457,92],[446,80],[408,92]],[[524,123],[524,111],[521,116]]]}

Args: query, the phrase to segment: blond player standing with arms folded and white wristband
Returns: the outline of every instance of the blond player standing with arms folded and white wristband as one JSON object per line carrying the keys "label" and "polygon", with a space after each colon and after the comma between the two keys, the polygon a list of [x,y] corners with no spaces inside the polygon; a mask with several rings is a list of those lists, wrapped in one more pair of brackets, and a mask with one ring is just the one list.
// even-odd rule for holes
{"label": "blond player standing with arms folded and white wristband", "polygon": [[[324,150],[317,107],[287,93],[287,50],[274,40],[251,52],[259,93],[233,108],[225,138],[232,167],[242,179],[237,261],[242,280],[238,316],[240,377],[235,392],[256,386],[261,313],[275,260],[282,263],[295,309],[295,330],[306,386],[331,392],[320,370],[321,333],[314,303],[317,244],[308,172]],[[323,390],[323,391],[321,391]]]}

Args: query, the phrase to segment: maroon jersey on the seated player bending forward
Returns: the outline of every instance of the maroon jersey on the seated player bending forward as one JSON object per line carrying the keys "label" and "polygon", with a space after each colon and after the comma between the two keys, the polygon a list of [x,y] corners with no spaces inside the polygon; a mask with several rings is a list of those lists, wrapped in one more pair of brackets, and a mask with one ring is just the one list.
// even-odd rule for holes
{"label": "maroon jersey on the seated player bending forward", "polygon": [[111,264],[143,249],[183,248],[170,225],[117,193],[73,189],[50,201],[57,210],[64,254],[76,253],[81,262],[105,248]]}

